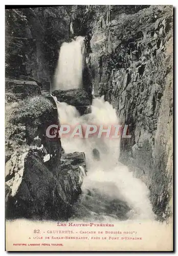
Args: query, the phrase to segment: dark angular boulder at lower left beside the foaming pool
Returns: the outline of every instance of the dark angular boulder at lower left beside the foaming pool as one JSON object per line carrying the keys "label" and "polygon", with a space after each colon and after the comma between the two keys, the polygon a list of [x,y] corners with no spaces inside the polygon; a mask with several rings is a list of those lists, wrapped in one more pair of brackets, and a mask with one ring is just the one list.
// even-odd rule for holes
{"label": "dark angular boulder at lower left beside the foaming pool", "polygon": [[85,157],[69,155],[62,157],[56,174],[48,167],[50,160],[44,162],[37,150],[14,154],[6,164],[7,218],[67,220],[71,216],[71,206],[81,194]]}

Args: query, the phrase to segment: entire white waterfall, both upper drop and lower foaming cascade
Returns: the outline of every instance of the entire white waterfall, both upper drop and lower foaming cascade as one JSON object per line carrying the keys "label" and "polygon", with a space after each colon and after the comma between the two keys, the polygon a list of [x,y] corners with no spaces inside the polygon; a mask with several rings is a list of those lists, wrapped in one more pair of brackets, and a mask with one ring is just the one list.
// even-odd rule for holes
{"label": "entire white waterfall, both upper drop and lower foaming cascade", "polygon": [[[83,38],[79,37],[70,44],[62,45],[59,69],[57,67],[57,89],[81,86],[83,53],[79,45],[82,42]],[[119,124],[115,109],[104,101],[104,97],[93,99],[91,113],[83,116],[74,106],[57,100],[56,104],[61,125]],[[61,143],[65,153],[84,152],[86,157],[87,176],[82,184],[82,195],[74,205],[74,219],[154,219],[148,188],[140,179],[133,177],[127,166],[119,162],[118,138],[62,137]]]}

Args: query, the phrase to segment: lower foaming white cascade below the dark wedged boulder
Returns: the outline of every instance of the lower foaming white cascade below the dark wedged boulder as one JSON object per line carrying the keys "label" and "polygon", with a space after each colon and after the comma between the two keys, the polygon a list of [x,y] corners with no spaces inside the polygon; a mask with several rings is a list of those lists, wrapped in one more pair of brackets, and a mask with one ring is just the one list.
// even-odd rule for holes
{"label": "lower foaming white cascade below the dark wedged boulder", "polygon": [[[80,116],[74,106],[64,102],[56,102],[60,124],[116,124],[119,120],[116,111],[104,98],[93,100],[92,112]],[[87,176],[82,185],[82,196],[77,205],[78,211],[84,206],[89,217],[97,219],[99,216],[119,219],[117,207],[112,212],[113,202],[125,202],[129,210],[125,212],[125,219],[153,220],[152,205],[149,201],[149,190],[145,183],[133,177],[133,173],[119,162],[120,140],[108,138],[61,138],[65,153],[84,152],[87,165]],[[95,159],[94,148],[99,152],[100,160]],[[89,192],[88,192],[89,191]],[[109,204],[109,209],[107,203]],[[107,207],[106,207],[107,206]],[[118,207],[121,207],[118,205]],[[124,208],[125,209],[125,208]],[[108,213],[109,212],[109,213]],[[88,216],[88,215],[87,215]]]}

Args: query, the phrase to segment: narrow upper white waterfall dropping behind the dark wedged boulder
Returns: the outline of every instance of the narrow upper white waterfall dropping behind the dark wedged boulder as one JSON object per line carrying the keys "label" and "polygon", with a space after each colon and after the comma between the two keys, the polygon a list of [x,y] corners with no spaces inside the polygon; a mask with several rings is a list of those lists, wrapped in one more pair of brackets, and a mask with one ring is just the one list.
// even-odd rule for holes
{"label": "narrow upper white waterfall dropping behind the dark wedged boulder", "polygon": [[82,88],[82,72],[85,59],[84,37],[64,42],[60,48],[54,77],[54,90]]}

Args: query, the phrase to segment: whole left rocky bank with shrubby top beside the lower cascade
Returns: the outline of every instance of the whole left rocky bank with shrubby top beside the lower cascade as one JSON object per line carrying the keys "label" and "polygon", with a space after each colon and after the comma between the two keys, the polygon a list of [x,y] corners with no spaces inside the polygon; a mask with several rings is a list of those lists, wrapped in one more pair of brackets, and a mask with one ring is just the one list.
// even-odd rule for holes
{"label": "whole left rocky bank with shrubby top beside the lower cascade", "polygon": [[6,216],[68,219],[86,172],[83,153],[62,154],[60,138],[46,135],[57,124],[51,96],[8,103],[6,124]]}

